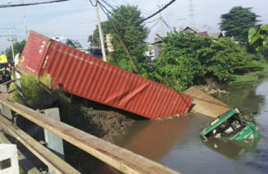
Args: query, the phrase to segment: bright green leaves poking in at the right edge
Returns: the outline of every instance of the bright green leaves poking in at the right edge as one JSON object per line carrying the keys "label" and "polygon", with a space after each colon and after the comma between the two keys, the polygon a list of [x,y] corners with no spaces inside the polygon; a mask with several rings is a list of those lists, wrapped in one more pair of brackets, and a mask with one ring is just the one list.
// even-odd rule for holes
{"label": "bright green leaves poking in at the right edge", "polygon": [[249,29],[248,42],[257,52],[260,51],[262,46],[268,46],[268,24],[263,27]]}

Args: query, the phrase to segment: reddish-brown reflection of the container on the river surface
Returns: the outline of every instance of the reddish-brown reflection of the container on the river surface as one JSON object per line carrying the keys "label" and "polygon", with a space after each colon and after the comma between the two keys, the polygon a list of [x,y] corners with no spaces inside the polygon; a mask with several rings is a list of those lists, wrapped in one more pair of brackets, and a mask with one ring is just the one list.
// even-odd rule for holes
{"label": "reddish-brown reflection of the container on the river surface", "polygon": [[[137,125],[140,128],[139,125]],[[171,120],[149,120],[144,128],[129,134],[119,144],[134,153],[160,161],[175,142],[180,141],[189,127],[189,117],[181,116]]]}

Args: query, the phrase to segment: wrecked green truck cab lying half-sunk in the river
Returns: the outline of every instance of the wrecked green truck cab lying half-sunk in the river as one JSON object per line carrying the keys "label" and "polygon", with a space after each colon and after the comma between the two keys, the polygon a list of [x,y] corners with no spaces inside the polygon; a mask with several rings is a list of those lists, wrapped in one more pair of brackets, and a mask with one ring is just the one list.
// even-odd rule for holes
{"label": "wrecked green truck cab lying half-sunk in the river", "polygon": [[238,108],[234,108],[207,125],[200,132],[200,137],[204,141],[210,138],[250,141],[260,135],[253,114],[243,116]]}

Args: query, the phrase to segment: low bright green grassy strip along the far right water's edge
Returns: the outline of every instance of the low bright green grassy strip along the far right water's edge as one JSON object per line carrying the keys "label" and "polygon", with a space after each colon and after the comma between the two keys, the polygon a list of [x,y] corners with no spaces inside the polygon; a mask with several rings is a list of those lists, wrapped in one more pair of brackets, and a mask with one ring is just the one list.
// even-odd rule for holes
{"label": "low bright green grassy strip along the far right water's edge", "polygon": [[255,81],[264,74],[268,74],[268,63],[264,63],[264,70],[249,72],[244,75],[235,75],[235,74],[231,75],[230,85],[237,85],[237,84]]}

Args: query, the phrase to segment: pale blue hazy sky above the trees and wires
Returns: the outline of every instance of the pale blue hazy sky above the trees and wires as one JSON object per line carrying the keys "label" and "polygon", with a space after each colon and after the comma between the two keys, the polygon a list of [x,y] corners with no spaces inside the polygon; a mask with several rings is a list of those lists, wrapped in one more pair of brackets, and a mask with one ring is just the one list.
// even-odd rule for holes
{"label": "pale blue hazy sky above the trees and wires", "polygon": [[[21,4],[46,2],[50,0],[0,0],[3,4]],[[94,2],[94,0],[92,0]],[[144,17],[156,12],[159,7],[169,3],[171,0],[105,0],[114,8],[121,4],[137,5]],[[267,0],[192,0],[192,14],[190,18],[190,0],[176,0],[167,7],[161,15],[163,20],[170,26],[178,29],[190,26],[190,20],[194,20],[197,31],[208,31],[210,33],[220,32],[219,23],[222,13],[227,13],[233,6],[252,7],[260,17],[261,24],[268,23],[268,1]],[[103,3],[104,4],[104,3]],[[109,9],[109,7],[107,6]],[[82,46],[89,46],[88,36],[96,29],[96,11],[89,0],[71,0],[63,3],[38,4],[32,6],[0,8],[0,53],[10,46],[8,35],[11,31],[17,41],[26,38],[25,22],[27,29],[32,29],[46,37],[64,37],[78,40]],[[150,29],[148,42],[154,42],[155,33],[162,36],[170,31],[163,22],[157,22],[160,17],[146,21]],[[101,21],[107,18],[100,10]],[[155,21],[156,20],[156,21]],[[192,26],[191,26],[192,27]],[[9,30],[10,29],[10,30]]]}

